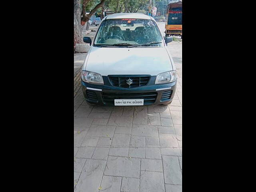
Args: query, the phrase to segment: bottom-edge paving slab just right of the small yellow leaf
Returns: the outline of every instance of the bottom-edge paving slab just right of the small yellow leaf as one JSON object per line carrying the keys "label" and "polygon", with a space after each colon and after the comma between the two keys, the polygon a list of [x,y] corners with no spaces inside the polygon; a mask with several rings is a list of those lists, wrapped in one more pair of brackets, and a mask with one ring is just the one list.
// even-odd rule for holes
{"label": "bottom-edge paving slab just right of the small yellow leaf", "polygon": [[[101,182],[102,192],[120,192],[122,183],[121,177],[113,177],[104,175]],[[98,191],[97,191],[98,192]]]}

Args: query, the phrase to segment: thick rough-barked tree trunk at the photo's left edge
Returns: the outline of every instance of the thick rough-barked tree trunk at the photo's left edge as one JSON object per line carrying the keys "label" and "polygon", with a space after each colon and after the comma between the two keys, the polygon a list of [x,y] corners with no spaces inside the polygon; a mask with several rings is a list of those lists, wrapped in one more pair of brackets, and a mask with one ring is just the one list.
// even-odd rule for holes
{"label": "thick rough-barked tree trunk at the photo's left edge", "polygon": [[80,2],[79,0],[74,0],[74,47],[76,44],[83,43],[83,35],[80,25],[81,13],[80,13]]}

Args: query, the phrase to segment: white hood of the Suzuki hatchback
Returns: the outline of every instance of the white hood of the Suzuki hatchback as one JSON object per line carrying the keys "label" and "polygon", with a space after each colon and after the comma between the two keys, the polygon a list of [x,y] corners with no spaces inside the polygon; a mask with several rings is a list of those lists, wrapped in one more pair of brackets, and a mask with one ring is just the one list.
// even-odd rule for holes
{"label": "white hood of the Suzuki hatchback", "polygon": [[107,75],[157,75],[171,71],[172,62],[165,47],[109,48],[91,47],[83,70]]}

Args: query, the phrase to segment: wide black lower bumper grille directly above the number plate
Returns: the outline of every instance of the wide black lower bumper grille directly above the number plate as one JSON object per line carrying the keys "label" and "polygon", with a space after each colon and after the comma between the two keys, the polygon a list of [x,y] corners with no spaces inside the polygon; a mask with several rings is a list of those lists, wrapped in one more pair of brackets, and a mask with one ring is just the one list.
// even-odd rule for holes
{"label": "wide black lower bumper grille directly above the number plate", "polygon": [[115,99],[144,99],[144,104],[153,104],[156,101],[157,92],[148,93],[110,93],[103,92],[104,103],[114,104]]}

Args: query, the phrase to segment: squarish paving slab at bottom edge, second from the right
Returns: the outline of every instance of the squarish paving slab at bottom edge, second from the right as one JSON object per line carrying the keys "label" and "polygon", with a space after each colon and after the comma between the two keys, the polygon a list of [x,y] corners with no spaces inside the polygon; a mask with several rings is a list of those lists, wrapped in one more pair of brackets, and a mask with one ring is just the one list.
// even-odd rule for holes
{"label": "squarish paving slab at bottom edge, second from the right", "polygon": [[163,173],[141,171],[140,192],[164,192]]}

